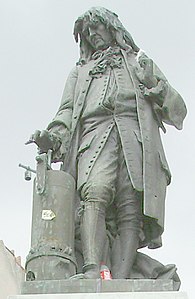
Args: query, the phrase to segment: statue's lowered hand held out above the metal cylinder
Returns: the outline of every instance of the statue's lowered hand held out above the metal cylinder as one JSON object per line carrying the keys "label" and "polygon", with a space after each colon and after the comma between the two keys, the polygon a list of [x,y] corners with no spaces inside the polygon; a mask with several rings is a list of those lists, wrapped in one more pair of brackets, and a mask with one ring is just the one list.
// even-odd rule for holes
{"label": "statue's lowered hand held out above the metal cylinder", "polygon": [[40,152],[46,153],[49,149],[56,150],[60,147],[59,137],[48,130],[36,130],[25,144],[35,143]]}

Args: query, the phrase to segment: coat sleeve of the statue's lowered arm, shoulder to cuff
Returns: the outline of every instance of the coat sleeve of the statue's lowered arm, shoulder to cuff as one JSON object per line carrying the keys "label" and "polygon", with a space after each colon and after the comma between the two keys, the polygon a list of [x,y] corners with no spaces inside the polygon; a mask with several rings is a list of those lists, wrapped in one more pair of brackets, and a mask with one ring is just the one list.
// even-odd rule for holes
{"label": "coat sleeve of the statue's lowered arm, shoulder to cuff", "polygon": [[60,107],[52,122],[48,125],[48,130],[50,130],[56,125],[62,125],[68,130],[70,130],[77,77],[78,72],[77,67],[75,67],[68,76],[62,95]]}

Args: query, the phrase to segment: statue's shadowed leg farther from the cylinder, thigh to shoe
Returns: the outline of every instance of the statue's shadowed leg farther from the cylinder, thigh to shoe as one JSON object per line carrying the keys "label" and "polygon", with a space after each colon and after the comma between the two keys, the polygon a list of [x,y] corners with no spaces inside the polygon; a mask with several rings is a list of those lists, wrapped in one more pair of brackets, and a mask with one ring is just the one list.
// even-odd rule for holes
{"label": "statue's shadowed leg farther from the cylinder, thigh to shoe", "polygon": [[119,166],[117,181],[117,227],[119,254],[112,268],[113,278],[129,278],[139,248],[142,219],[142,192],[136,191],[127,173],[124,159]]}

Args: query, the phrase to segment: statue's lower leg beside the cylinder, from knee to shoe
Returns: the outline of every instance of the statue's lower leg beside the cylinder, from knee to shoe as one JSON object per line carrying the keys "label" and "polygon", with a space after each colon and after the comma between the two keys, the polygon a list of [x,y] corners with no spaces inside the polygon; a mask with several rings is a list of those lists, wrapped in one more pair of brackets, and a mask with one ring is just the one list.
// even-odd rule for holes
{"label": "statue's lower leg beside the cylinder, from knee to shoe", "polygon": [[[84,278],[100,277],[100,264],[106,243],[105,211],[113,190],[106,178],[90,179],[82,188],[81,242],[84,258]],[[103,198],[103,199],[102,199]]]}

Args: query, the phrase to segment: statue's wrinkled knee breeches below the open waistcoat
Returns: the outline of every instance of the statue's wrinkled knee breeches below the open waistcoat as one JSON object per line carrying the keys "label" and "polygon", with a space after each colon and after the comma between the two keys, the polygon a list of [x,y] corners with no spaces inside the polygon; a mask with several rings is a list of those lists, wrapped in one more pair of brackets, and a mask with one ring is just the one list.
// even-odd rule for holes
{"label": "statue's wrinkled knee breeches below the open waistcoat", "polygon": [[[78,165],[78,175],[79,171],[82,170]],[[132,186],[116,127],[112,129],[80,194],[84,205],[94,202],[102,213],[107,210],[109,214],[114,207],[119,233],[128,228],[140,232],[143,193]]]}

